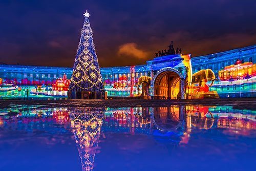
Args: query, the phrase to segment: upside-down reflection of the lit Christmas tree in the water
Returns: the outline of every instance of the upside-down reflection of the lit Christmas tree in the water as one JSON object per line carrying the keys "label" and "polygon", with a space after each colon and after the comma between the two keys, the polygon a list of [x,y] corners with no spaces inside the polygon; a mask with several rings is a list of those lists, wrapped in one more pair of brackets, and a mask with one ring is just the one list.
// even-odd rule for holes
{"label": "upside-down reflection of the lit Christmas tree in the water", "polygon": [[104,115],[104,109],[70,111],[71,126],[81,158],[82,170],[92,170]]}

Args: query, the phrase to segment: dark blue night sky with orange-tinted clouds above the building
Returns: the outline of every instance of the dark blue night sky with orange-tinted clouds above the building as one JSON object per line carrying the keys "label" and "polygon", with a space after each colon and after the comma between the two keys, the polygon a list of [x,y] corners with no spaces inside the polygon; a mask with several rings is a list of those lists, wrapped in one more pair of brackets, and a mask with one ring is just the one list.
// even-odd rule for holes
{"label": "dark blue night sky with orange-tinted clouds above the building", "polygon": [[192,56],[256,44],[255,0],[0,0],[0,62],[73,67],[87,9],[101,67],[144,64],[171,40]]}

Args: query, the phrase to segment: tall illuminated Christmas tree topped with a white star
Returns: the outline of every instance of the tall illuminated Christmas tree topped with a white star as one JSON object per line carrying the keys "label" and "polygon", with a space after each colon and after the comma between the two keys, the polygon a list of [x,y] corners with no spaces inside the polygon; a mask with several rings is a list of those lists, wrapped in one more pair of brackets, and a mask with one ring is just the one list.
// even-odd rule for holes
{"label": "tall illuminated Christmas tree topped with a white star", "polygon": [[[88,97],[90,93],[104,92],[98,58],[93,42],[93,31],[90,26],[88,11],[83,14],[85,19],[81,30],[81,38],[76,53],[73,74],[69,91],[73,98]],[[76,92],[76,95],[74,95]],[[82,92],[89,92],[83,96]],[[70,93],[70,97],[71,97]],[[72,98],[72,97],[71,97]]]}

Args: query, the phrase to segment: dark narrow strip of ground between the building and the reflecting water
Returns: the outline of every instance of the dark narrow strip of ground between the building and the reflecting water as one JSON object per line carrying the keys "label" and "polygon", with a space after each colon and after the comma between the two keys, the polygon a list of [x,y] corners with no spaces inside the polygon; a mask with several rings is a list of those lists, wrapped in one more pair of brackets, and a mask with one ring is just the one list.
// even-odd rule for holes
{"label": "dark narrow strip of ground between the building and the reflecting water", "polygon": [[198,100],[0,100],[0,109],[15,108],[20,105],[40,107],[135,107],[169,105],[230,105],[237,109],[256,110],[256,98],[239,99],[198,99]]}

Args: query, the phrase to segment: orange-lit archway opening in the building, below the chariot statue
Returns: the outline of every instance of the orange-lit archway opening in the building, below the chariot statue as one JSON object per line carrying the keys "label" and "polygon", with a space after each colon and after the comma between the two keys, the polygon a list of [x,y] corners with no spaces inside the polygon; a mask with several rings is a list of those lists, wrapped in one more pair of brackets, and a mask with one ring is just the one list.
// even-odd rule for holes
{"label": "orange-lit archway opening in the building, below the chariot statue", "polygon": [[[164,86],[162,81],[165,81]],[[176,84],[179,82],[179,86],[175,89]],[[184,99],[184,76],[175,68],[166,67],[159,70],[152,81],[153,96],[157,99]],[[179,93],[174,93],[174,92]]]}

